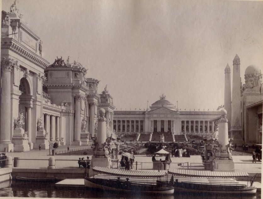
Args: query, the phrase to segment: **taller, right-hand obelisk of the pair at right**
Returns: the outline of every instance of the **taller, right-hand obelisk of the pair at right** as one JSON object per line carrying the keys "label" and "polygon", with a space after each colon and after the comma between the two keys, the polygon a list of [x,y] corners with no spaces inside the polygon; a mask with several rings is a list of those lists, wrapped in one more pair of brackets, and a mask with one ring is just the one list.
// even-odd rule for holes
{"label": "taller, right-hand obelisk of the pair at right", "polygon": [[241,94],[240,94],[240,59],[238,55],[233,60],[233,83],[231,105],[231,137],[235,142],[242,142],[241,129]]}

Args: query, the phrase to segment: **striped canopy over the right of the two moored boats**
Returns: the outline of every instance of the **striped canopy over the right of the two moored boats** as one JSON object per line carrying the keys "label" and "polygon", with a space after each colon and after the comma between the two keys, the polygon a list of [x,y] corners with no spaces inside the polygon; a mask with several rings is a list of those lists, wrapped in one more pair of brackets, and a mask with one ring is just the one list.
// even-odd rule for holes
{"label": "striped canopy over the right of the two moored boats", "polygon": [[169,169],[169,174],[187,176],[187,177],[212,177],[212,178],[231,178],[231,177],[247,177],[247,172],[224,172],[224,171],[198,171],[198,170],[182,170]]}

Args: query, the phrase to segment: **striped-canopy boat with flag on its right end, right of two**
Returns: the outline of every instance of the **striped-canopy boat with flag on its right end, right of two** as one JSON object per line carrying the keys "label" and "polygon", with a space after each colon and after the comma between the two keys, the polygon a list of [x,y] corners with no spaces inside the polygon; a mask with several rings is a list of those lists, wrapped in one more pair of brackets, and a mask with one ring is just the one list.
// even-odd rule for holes
{"label": "striped-canopy boat with flag on its right end, right of two", "polygon": [[[217,171],[200,171],[200,170],[182,170],[169,169],[169,174],[187,177],[248,177],[247,172],[217,172]],[[176,179],[176,176],[174,177]],[[255,176],[253,177],[254,181]],[[252,182],[253,184],[253,182]],[[198,193],[214,193],[214,194],[254,194],[257,191],[255,186],[242,184],[215,184],[215,183],[199,183],[199,182],[178,182],[174,183],[175,191],[178,192],[198,192]]]}

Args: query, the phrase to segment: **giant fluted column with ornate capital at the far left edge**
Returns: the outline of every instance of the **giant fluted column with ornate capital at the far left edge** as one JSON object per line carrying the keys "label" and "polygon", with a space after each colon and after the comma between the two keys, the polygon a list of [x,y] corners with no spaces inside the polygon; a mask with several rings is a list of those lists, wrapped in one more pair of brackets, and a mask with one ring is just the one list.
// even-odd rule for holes
{"label": "giant fluted column with ornate capital at the far left edge", "polygon": [[[12,59],[5,59],[1,63],[2,68],[2,90],[1,90],[1,132],[0,132],[0,150],[8,151],[14,149],[10,140],[11,133],[11,70],[16,64]],[[13,121],[12,121],[13,123]]]}

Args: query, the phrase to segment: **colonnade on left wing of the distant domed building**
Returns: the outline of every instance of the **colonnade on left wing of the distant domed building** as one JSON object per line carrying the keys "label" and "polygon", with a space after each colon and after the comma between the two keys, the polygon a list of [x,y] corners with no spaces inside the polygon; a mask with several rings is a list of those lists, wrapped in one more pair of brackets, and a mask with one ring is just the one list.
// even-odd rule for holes
{"label": "colonnade on left wing of the distant domed building", "polygon": [[[132,123],[132,121],[133,121],[133,123]],[[136,121],[138,121],[138,122],[136,122]],[[141,120],[113,120],[113,125],[115,127],[114,130],[116,132],[143,132],[143,130],[144,130],[144,127],[141,129],[141,125],[143,125],[143,121],[141,121]],[[120,125],[120,130],[118,128],[119,125]],[[125,129],[122,128],[123,125],[125,125]],[[132,125],[133,125],[133,129],[132,129]],[[138,131],[136,131],[137,125],[139,127]]]}

